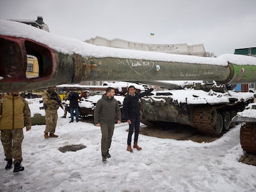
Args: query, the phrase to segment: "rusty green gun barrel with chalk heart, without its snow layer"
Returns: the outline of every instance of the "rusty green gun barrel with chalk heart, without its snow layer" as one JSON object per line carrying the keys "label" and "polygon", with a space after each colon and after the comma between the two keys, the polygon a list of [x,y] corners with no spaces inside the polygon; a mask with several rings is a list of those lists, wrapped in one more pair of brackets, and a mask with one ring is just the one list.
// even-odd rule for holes
{"label": "rusty green gun barrel with chalk heart, without its snow layer", "polygon": [[[99,46],[100,47],[100,46]],[[108,48],[106,48],[108,49]],[[138,52],[137,55],[139,55]],[[39,76],[27,78],[27,55],[35,56]],[[189,56],[183,56],[189,57]],[[246,59],[247,56],[243,56]],[[202,60],[206,57],[202,57]],[[255,58],[256,59],[256,58]],[[227,61],[226,65],[209,65],[154,61],[125,57],[83,57],[50,48],[35,39],[0,33],[0,90],[24,91],[62,83],[115,80],[215,80],[220,84],[256,81],[256,65],[241,65]]]}

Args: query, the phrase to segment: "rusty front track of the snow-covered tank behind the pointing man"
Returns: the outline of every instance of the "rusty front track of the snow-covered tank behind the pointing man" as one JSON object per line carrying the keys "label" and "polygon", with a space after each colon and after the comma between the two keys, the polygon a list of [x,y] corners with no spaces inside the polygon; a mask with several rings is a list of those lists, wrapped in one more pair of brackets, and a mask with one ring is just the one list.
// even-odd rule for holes
{"label": "rusty front track of the snow-covered tank behind the pointing man", "polygon": [[214,129],[216,114],[215,107],[198,107],[194,109],[192,115],[193,127],[196,127],[203,134],[218,136]]}

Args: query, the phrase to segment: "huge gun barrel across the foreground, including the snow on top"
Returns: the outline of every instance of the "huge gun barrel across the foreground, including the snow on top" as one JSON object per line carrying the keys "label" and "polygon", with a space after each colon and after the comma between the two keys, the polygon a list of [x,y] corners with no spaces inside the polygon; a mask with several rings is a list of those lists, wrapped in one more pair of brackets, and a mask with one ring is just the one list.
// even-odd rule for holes
{"label": "huge gun barrel across the foreground, including the snow on top", "polygon": [[[233,54],[197,57],[106,48],[64,38],[23,23],[0,20],[0,91],[24,91],[62,83],[114,80],[256,81],[256,58]],[[27,55],[39,75],[27,78]]]}

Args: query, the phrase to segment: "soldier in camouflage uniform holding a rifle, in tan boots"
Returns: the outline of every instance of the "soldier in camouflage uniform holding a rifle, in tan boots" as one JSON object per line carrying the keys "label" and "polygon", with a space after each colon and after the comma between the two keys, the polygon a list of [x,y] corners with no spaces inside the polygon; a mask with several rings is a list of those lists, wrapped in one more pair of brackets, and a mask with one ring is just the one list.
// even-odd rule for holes
{"label": "soldier in camouflage uniform holding a rifle, in tan boots", "polygon": [[59,98],[59,94],[55,90],[56,86],[49,87],[42,96],[45,107],[45,138],[58,138],[58,135],[54,135],[54,133],[58,120],[57,110],[59,109],[61,98]]}

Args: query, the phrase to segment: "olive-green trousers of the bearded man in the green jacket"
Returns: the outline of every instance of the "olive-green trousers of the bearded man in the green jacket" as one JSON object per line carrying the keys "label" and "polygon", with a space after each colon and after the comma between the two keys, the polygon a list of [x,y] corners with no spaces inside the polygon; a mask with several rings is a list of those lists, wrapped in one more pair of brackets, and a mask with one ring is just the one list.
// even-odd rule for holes
{"label": "olive-green trousers of the bearded man in the green jacket", "polygon": [[114,123],[100,123],[101,128],[101,155],[106,156],[111,146],[112,136],[114,133]]}

